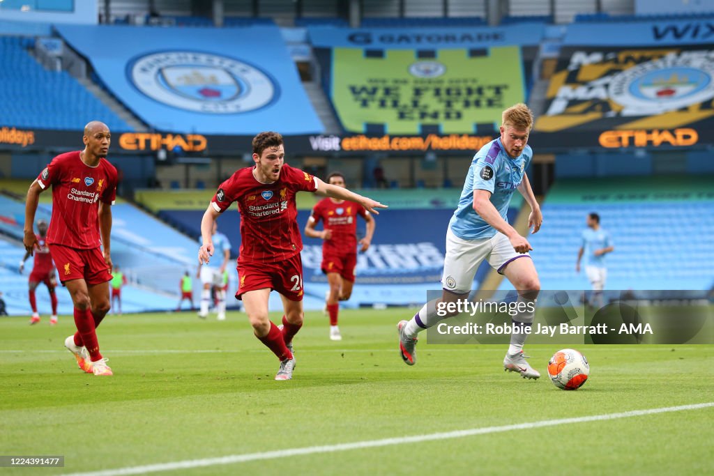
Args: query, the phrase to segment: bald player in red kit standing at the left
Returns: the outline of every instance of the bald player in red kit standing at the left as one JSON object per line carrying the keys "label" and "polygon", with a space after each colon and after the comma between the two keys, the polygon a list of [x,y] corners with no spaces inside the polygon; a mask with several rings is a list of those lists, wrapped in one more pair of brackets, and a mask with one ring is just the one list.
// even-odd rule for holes
{"label": "bald player in red kit standing at the left", "polygon": [[[27,191],[24,245],[32,253],[32,231],[40,193],[52,186],[52,218],[47,233],[59,279],[74,304],[77,333],[64,345],[79,368],[94,375],[112,375],[99,353],[96,326],[109,311],[111,280],[111,205],[116,197],[116,168],[106,161],[111,134],[106,124],[84,128],[84,150],[52,159]],[[104,253],[101,247],[104,246]]]}

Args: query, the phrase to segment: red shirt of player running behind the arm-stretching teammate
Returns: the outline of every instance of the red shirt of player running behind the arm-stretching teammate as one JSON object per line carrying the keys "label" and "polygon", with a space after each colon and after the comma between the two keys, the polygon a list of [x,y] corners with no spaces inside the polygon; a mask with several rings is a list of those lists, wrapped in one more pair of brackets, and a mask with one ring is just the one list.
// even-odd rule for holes
{"label": "red shirt of player running behind the arm-stretching teammate", "polygon": [[323,198],[313,208],[312,218],[323,221],[324,228],[332,231],[329,240],[323,240],[324,254],[346,255],[357,253],[357,216],[366,218],[367,211],[358,203],[343,201],[335,203]]}

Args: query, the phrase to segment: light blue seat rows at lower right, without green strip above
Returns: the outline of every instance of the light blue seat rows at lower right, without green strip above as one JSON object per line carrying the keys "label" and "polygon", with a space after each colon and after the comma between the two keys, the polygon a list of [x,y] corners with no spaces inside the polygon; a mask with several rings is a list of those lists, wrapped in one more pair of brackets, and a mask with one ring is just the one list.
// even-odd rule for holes
{"label": "light blue seat rows at lower right, without green strip above", "polygon": [[[595,210],[610,233],[607,288],[709,289],[713,285],[714,201],[543,204],[545,225],[529,235],[541,287],[589,289],[584,272],[575,273],[585,216]],[[676,231],[673,233],[672,231]]]}

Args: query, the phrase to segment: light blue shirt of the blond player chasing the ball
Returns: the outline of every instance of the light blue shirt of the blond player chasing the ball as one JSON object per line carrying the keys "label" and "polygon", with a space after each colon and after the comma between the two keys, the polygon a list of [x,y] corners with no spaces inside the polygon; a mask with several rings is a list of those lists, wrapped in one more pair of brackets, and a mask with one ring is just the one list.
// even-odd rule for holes
{"label": "light blue shirt of the blond player chasing the ball", "polygon": [[486,223],[478,213],[473,210],[473,191],[488,190],[491,192],[491,203],[496,207],[501,217],[508,221],[506,213],[511,196],[516,187],[521,185],[526,168],[533,158],[530,146],[523,148],[523,152],[516,158],[508,156],[503,149],[501,139],[497,138],[483,146],[473,156],[471,167],[466,174],[458,208],[453,213],[448,226],[454,235],[463,240],[480,240],[491,238],[498,231]]}

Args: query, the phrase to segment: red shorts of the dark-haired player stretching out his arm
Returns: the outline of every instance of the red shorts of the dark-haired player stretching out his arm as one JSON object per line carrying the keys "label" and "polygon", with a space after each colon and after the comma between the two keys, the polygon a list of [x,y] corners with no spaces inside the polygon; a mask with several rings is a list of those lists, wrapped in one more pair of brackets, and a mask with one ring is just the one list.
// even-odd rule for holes
{"label": "red shorts of the dark-haired player stretching out his arm", "polygon": [[303,300],[303,261],[300,253],[278,263],[239,263],[238,292],[270,288],[293,301]]}

